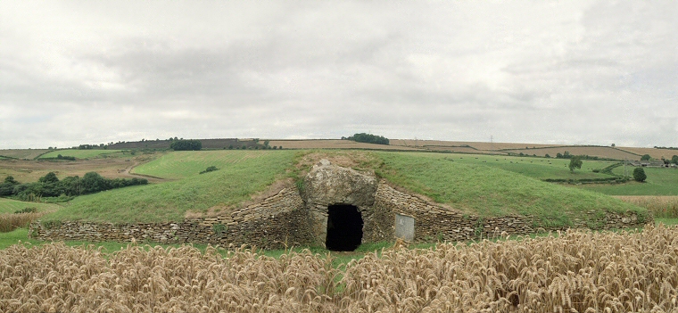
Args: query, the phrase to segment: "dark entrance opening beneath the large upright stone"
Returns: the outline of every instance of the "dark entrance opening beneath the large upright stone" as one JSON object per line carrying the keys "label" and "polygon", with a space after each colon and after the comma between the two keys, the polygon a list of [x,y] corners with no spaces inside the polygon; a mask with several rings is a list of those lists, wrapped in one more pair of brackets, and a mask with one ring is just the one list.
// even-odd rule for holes
{"label": "dark entrance opening beneath the large upright stone", "polygon": [[329,251],[354,251],[362,241],[362,216],[353,205],[327,207],[327,240]]}

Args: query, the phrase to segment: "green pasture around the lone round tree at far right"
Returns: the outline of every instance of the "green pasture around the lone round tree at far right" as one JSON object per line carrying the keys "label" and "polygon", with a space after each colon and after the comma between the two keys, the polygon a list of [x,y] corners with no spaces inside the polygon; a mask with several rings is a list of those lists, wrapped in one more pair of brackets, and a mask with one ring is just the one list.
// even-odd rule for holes
{"label": "green pasture around the lone round tree at far right", "polygon": [[[632,166],[626,167],[626,174],[633,176]],[[630,181],[618,185],[581,185],[583,189],[610,195],[678,195],[678,169],[643,168],[648,178],[643,183]],[[624,167],[612,170],[617,175],[624,175]]]}

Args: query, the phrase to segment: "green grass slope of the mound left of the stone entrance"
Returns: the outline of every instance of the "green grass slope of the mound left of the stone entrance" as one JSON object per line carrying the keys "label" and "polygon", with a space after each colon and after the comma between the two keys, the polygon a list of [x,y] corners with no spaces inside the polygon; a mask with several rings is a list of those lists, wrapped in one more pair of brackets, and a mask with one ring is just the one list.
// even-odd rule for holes
{"label": "green grass slope of the mound left of the stone entrance", "polygon": [[[294,154],[292,151],[170,152],[137,172],[180,179],[80,196],[43,220],[180,221],[187,210],[206,211],[214,206],[228,207],[249,200],[252,194],[288,175]],[[206,160],[219,170],[199,175]],[[172,175],[175,172],[179,174]]]}

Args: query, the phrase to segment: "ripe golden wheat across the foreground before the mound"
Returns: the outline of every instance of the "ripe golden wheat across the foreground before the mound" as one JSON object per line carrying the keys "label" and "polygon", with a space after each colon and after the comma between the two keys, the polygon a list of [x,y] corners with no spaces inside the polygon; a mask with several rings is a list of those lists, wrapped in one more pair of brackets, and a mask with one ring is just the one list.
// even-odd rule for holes
{"label": "ripe golden wheat across the foreground before the mound", "polygon": [[[223,254],[222,254],[223,253]],[[678,228],[271,258],[62,243],[0,251],[3,312],[675,312]]]}

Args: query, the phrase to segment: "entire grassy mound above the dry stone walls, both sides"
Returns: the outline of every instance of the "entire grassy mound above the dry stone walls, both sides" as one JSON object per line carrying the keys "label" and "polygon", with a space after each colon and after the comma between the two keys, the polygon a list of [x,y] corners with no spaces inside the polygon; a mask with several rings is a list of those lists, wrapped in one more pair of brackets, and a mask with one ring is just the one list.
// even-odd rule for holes
{"label": "entire grassy mound above the dry stone walls, both sides", "polygon": [[[321,157],[340,165],[343,161],[343,166],[374,169],[393,185],[481,217],[533,215],[539,226],[563,227],[575,218],[590,216],[589,212],[598,218],[606,211],[630,210],[641,216],[647,212],[604,194],[537,178],[571,175],[561,173],[569,170],[560,169],[565,166],[559,163],[492,159],[496,164],[491,164],[475,156],[421,152],[203,151],[170,152],[134,169],[137,174],[170,181],[81,196],[43,219],[179,221],[189,210],[236,207],[277,179],[302,173],[299,167],[310,167]],[[219,170],[200,174],[212,166]]]}

